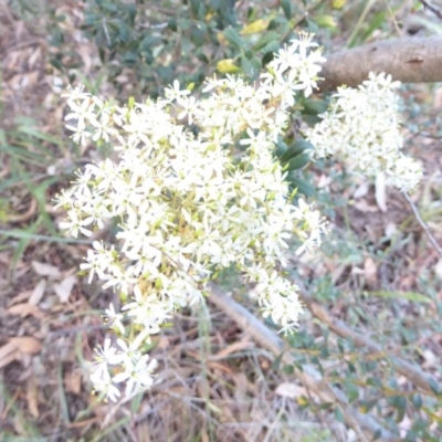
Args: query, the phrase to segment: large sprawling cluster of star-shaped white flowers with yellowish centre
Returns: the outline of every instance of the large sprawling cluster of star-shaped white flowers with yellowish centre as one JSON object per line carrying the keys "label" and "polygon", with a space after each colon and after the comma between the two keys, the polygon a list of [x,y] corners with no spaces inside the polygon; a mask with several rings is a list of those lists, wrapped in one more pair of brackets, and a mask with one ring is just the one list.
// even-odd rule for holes
{"label": "large sprawling cluster of star-shaped white flowers with yellowish centre", "polygon": [[115,383],[123,380],[129,394],[151,385],[156,362],[141,355],[143,344],[177,308],[200,302],[218,270],[235,265],[245,282],[256,283],[263,314],[284,332],[296,327],[297,287],[275,266],[284,265],[292,235],[302,240],[301,252],[317,246],[326,228],[306,202],[292,203],[273,151],[294,94],[316,87],[316,63],[324,59],[311,51],[315,46],[302,34],[257,84],[208,80],[203,92],[210,94],[202,98],[177,81],[165,98],[124,107],[82,87],[66,94],[73,139],[103,139],[119,152],[116,162],[86,166],[59,196],[67,211],[61,228],[74,236],[91,235],[112,219],[119,225],[118,250],[95,241],[81,265],[124,303],[120,312],[106,311],[119,348],[106,340],[91,377],[103,397],[116,400]]}

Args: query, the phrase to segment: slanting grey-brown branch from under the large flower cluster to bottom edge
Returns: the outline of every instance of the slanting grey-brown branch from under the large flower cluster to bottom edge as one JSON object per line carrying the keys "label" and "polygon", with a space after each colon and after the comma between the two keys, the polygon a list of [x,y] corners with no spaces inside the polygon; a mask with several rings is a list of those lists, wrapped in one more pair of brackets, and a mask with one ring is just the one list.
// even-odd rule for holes
{"label": "slanting grey-brown branch from under the large flower cluster to bottom edge", "polygon": [[[288,351],[285,351],[287,348],[285,348],[283,340],[246,308],[223,294],[218,286],[211,286],[209,301],[223,311],[244,332],[249,333],[261,347],[269,349],[276,357],[284,351],[282,361],[293,365],[293,357]],[[377,434],[381,441],[393,442],[400,440],[399,436],[396,436],[389,430],[381,427],[377,420],[369,414],[361,414],[355,410],[348,403],[345,394],[326,382],[320,373],[313,367],[303,366],[303,370],[299,370],[294,366],[294,370],[296,377],[304,387],[315,393],[323,402],[332,402],[340,407],[346,422],[356,431],[360,440],[364,441],[367,440],[367,438],[372,439],[375,434]]]}

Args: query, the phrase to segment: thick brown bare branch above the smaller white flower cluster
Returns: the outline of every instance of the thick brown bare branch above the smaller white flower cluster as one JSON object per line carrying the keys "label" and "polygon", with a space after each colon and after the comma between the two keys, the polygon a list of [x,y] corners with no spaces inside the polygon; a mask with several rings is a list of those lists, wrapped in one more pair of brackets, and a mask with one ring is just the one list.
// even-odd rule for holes
{"label": "thick brown bare branch above the smaller white flower cluster", "polygon": [[385,40],[325,54],[322,91],[357,86],[370,71],[386,72],[402,83],[442,82],[442,36]]}

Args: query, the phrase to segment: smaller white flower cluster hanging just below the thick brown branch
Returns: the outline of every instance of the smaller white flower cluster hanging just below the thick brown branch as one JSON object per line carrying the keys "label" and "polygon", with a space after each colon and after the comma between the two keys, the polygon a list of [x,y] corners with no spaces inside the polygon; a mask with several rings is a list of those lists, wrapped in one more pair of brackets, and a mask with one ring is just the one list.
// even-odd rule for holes
{"label": "smaller white flower cluster hanging just below the thick brown branch", "polygon": [[338,87],[319,124],[306,133],[316,147],[313,159],[338,156],[349,170],[366,177],[385,172],[387,183],[412,190],[422,178],[419,162],[401,152],[400,86],[385,73],[369,74],[358,88]]}

